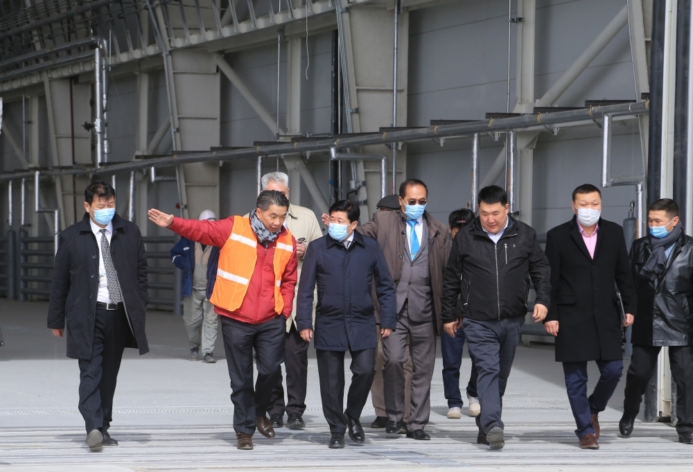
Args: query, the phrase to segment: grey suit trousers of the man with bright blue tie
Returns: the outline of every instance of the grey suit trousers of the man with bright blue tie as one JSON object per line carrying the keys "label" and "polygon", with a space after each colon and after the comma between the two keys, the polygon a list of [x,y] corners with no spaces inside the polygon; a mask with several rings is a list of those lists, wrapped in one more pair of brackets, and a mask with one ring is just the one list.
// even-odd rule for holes
{"label": "grey suit trousers of the man with bright blue tie", "polygon": [[405,305],[397,320],[397,328],[383,339],[383,383],[385,384],[385,412],[390,421],[403,421],[405,413],[405,376],[407,362],[407,336],[409,357],[412,358],[411,413],[407,431],[423,429],[431,413],[431,379],[435,368],[436,335],[433,322],[414,322],[409,319]]}

